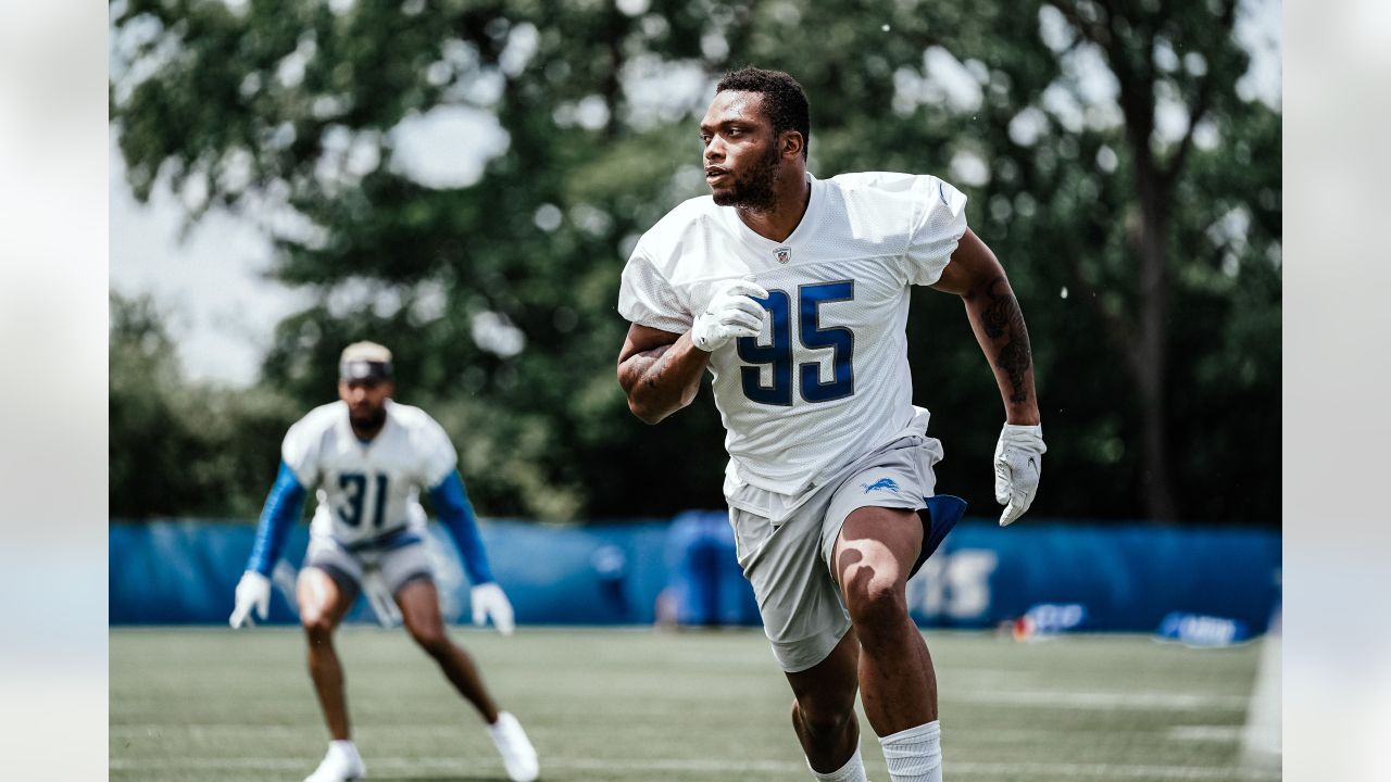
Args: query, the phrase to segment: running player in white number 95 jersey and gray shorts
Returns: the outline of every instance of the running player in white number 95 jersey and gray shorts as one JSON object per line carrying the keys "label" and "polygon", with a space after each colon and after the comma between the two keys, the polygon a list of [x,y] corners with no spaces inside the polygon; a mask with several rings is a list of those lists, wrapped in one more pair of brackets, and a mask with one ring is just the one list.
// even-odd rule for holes
{"label": "running player in white number 95 jersey and gray shorts", "polygon": [[912,405],[910,287],[960,296],[995,372],[1002,525],[1032,502],[1045,451],[1029,341],[1004,270],[965,225],[964,195],[928,175],[811,177],[810,125],[787,74],[719,82],[700,124],[712,195],[637,242],[618,376],[647,423],[714,376],[739,562],[812,774],[864,781],[860,690],[892,779],[940,781],[936,679],[904,587],[964,504],[936,495],[942,447]]}

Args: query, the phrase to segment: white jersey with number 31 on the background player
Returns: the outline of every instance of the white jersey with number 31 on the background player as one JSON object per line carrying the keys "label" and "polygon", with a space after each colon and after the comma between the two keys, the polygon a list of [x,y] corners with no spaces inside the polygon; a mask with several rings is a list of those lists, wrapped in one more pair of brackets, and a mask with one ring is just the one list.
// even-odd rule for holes
{"label": "white jersey with number 31 on the background player", "polygon": [[300,486],[317,488],[310,534],[366,543],[401,527],[424,527],[420,488],[434,488],[459,461],[430,413],[387,399],[387,423],[357,440],[348,404],[314,408],[285,434],[281,458]]}

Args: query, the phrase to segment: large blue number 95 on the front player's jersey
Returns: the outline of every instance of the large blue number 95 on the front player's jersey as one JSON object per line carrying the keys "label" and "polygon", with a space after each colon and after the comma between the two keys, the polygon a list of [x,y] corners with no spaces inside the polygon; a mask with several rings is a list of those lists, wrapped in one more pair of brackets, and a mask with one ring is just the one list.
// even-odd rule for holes
{"label": "large blue number 95 on the front player's jersey", "polygon": [[[855,298],[853,280],[821,282],[797,288],[797,338],[804,348],[830,348],[830,365],[835,377],[821,381],[821,362],[797,365],[798,390],[808,402],[829,402],[843,399],[855,392],[855,373],[851,359],[855,349],[854,331],[837,326],[821,327],[821,305],[828,302],[849,302]],[[791,405],[793,355],[791,355],[791,301],[786,291],[768,291],[766,299],[754,299],[768,310],[772,321],[772,344],[759,345],[757,337],[740,337],[736,342],[739,358],[750,365],[771,365],[772,385],[762,384],[762,369],[743,366],[739,377],[744,397],[764,405]]]}

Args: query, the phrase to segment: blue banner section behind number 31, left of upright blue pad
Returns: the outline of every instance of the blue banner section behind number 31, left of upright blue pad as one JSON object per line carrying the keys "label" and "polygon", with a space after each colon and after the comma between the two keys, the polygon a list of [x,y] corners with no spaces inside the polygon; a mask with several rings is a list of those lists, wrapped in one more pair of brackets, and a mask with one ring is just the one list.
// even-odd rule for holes
{"label": "blue banner section behind number 31, left of upright blue pad", "polygon": [[[534,625],[622,625],[655,619],[657,594],[666,587],[664,559],[669,522],[552,527],[483,522],[480,530],[494,575],[516,609]],[[448,533],[430,523],[426,540],[445,618],[467,622],[469,582]],[[108,611],[113,625],[225,622],[232,593],[256,537],[239,522],[113,523]],[[309,541],[299,525],[285,544],[298,569]],[[288,600],[292,575],[275,580],[271,623],[296,622]],[[346,621],[373,621],[359,598]]]}

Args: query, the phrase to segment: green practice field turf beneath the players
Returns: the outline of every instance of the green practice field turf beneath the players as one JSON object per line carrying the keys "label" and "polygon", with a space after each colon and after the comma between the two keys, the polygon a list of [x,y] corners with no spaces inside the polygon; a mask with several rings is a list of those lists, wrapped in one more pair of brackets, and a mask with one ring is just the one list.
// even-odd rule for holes
{"label": "green practice field turf beneath the players", "polygon": [[[562,781],[808,781],[758,630],[458,630]],[[1278,779],[1235,768],[1259,646],[929,632],[946,779]],[[505,782],[476,714],[401,630],[339,633],[369,779]],[[113,629],[111,779],[303,779],[327,742],[287,628]],[[886,782],[861,714],[869,779]]]}

